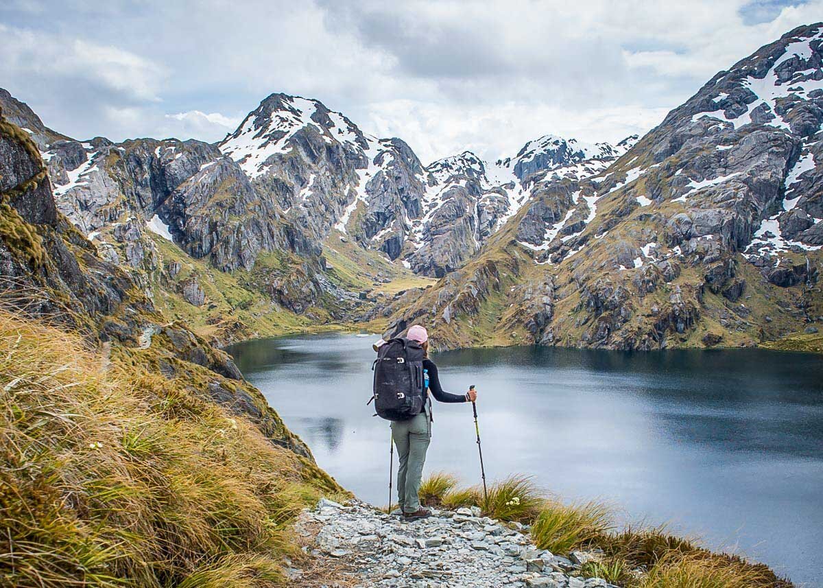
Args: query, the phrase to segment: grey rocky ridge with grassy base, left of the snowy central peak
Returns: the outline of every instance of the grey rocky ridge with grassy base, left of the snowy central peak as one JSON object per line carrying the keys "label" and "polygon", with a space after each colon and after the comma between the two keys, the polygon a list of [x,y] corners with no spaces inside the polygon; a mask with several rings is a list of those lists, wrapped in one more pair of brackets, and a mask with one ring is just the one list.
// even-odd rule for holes
{"label": "grey rocky ridge with grassy base, left of the snowy central peak", "polygon": [[7,92],[0,108],[35,140],[58,210],[161,310],[213,342],[311,328],[360,304],[319,242],[217,146],[77,141]]}

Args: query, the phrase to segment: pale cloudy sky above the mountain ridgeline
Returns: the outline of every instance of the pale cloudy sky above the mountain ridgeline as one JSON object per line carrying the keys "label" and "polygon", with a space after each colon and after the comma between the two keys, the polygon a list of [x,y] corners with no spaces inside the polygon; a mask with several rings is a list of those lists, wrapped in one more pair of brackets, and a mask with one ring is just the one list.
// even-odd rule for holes
{"label": "pale cloudy sky above the mountain ridgeline", "polygon": [[322,100],[424,162],[644,133],[823,0],[2,0],[0,87],[44,123],[216,141]]}

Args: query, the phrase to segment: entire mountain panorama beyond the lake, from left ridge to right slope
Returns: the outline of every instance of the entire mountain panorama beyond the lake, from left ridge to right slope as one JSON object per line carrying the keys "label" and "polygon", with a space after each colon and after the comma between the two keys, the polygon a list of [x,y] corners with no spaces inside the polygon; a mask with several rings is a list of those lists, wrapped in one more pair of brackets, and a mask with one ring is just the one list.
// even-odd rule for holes
{"label": "entire mountain panorama beyond the lake, from left ridge to right slope", "polygon": [[421,322],[439,349],[821,351],[821,59],[823,25],[802,26],[643,137],[547,134],[494,162],[425,165],[286,94],[216,144],[76,140],[0,107],[78,246],[217,345]]}

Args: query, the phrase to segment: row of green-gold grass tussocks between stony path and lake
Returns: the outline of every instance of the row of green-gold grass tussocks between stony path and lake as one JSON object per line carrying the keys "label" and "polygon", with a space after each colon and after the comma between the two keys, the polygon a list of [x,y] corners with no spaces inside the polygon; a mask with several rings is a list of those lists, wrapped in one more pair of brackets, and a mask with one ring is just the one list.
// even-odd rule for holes
{"label": "row of green-gold grass tussocks between stony path and lake", "polygon": [[556,555],[597,552],[579,576],[597,577],[626,588],[792,588],[769,567],[737,555],[712,553],[665,526],[617,530],[611,508],[601,502],[564,503],[542,492],[531,478],[512,476],[489,487],[461,488],[450,474],[431,474],[421,484],[429,506],[478,506],[486,516],[530,525],[538,548]]}

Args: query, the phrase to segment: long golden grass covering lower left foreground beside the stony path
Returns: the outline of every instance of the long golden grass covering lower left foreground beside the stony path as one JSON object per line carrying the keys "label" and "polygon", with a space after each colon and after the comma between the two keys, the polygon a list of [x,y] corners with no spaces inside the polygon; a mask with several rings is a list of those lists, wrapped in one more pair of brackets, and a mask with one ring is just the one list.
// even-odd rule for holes
{"label": "long golden grass covering lower left foreground beside the stony path", "polygon": [[281,586],[305,460],[184,382],[0,310],[0,584]]}

